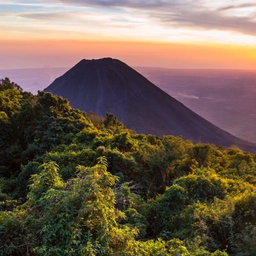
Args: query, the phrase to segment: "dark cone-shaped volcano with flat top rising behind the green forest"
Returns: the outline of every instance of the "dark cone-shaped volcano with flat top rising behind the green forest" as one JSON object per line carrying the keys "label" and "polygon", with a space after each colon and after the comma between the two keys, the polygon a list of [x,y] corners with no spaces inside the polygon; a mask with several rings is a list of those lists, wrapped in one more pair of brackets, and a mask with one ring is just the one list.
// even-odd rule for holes
{"label": "dark cone-shaped volcano with flat top rising behind the green forest", "polygon": [[115,114],[136,132],[255,151],[256,146],[211,124],[120,60],[81,60],[44,90],[97,115]]}

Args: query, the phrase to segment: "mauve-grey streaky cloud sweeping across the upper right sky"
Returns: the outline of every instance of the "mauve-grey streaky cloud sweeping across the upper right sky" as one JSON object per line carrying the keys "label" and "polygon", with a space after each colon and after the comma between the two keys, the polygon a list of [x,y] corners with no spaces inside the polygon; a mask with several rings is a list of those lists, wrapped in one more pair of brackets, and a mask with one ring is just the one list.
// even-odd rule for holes
{"label": "mauve-grey streaky cloud sweeping across the upper right sky", "polygon": [[[102,8],[132,8],[159,24],[189,29],[216,29],[256,35],[255,17],[249,15],[230,15],[227,10],[256,6],[255,3],[221,6],[213,8],[207,1],[200,0],[48,0],[55,3],[95,6]],[[217,1],[218,2],[218,1]],[[226,2],[228,3],[228,2]],[[134,12],[134,11],[133,11]]]}

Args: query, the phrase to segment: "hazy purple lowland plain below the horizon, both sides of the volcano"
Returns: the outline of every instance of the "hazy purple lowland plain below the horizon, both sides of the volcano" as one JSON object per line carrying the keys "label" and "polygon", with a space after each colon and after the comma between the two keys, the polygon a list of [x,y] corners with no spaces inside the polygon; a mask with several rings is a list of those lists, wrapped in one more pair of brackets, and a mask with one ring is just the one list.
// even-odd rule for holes
{"label": "hazy purple lowland plain below the horizon, both sides of the volcano", "polygon": [[[134,67],[198,115],[221,129],[256,142],[256,70]],[[0,70],[24,90],[43,90],[69,68]]]}

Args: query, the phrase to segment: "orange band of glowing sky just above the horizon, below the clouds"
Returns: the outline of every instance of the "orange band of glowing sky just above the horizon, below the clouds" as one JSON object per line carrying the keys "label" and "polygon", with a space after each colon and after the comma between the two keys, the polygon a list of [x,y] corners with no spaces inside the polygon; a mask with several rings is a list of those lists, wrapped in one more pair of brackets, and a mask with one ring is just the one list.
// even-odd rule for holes
{"label": "orange band of glowing sky just above the horizon, below the clouds", "polygon": [[256,69],[256,46],[93,40],[1,40],[0,68],[71,67],[83,58],[132,66]]}

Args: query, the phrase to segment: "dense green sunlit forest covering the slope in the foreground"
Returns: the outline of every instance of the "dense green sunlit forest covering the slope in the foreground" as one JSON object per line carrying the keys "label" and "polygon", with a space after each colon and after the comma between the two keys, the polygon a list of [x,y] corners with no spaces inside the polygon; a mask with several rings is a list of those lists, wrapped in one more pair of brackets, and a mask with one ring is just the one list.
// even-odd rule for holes
{"label": "dense green sunlit forest covering the slope in the foreground", "polygon": [[[189,125],[189,124],[188,124]],[[256,255],[256,161],[0,81],[0,255]]]}

